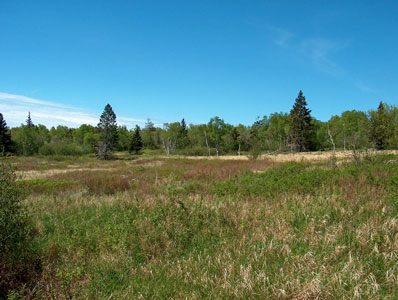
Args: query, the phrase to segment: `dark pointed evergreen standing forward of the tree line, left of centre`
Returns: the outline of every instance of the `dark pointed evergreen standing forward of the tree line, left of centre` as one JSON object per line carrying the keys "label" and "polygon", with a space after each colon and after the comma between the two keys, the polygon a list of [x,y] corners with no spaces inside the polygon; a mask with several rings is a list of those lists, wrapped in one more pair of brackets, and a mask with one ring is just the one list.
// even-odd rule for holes
{"label": "dark pointed evergreen standing forward of the tree line, left of centre", "polygon": [[112,156],[112,150],[117,146],[117,124],[116,114],[112,106],[107,104],[100,117],[98,128],[101,138],[97,148],[97,155],[102,159],[109,159]]}

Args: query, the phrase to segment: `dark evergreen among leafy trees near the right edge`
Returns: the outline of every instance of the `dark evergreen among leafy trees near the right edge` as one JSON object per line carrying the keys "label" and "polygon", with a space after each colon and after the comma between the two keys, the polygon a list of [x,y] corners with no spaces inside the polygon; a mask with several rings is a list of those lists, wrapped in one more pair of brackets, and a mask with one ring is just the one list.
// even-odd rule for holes
{"label": "dark evergreen among leafy trees near the right edge", "polygon": [[388,139],[393,134],[385,105],[380,101],[377,111],[370,112],[370,139],[377,150],[385,149]]}

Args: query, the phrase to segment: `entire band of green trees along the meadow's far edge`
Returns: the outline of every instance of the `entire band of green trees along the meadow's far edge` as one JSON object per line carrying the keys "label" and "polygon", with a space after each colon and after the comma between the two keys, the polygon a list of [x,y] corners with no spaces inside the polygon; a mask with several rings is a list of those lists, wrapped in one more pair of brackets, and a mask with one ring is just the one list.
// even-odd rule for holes
{"label": "entire band of green trees along the meadow's far edge", "polygon": [[114,151],[140,154],[143,149],[167,155],[222,155],[261,152],[324,151],[336,149],[398,149],[398,107],[380,102],[368,112],[351,110],[327,122],[311,115],[300,91],[289,113],[257,118],[251,126],[226,123],[213,117],[205,124],[165,123],[156,127],[148,119],[143,128],[118,126],[106,105],[97,126],[83,124],[46,128],[28,114],[25,124],[9,129],[0,113],[0,153],[7,155],[82,155],[95,153],[109,159]]}

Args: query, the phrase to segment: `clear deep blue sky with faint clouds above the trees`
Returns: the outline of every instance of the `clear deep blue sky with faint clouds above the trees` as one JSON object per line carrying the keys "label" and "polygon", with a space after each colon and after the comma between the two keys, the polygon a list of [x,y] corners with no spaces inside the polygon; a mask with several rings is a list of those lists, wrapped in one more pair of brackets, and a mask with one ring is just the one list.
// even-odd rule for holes
{"label": "clear deep blue sky with faint clouds above the trees", "polygon": [[397,1],[0,0],[0,112],[18,126],[252,124],[398,104]]}

